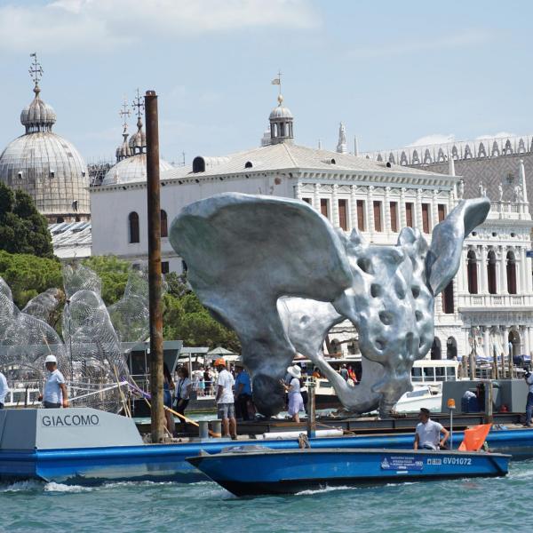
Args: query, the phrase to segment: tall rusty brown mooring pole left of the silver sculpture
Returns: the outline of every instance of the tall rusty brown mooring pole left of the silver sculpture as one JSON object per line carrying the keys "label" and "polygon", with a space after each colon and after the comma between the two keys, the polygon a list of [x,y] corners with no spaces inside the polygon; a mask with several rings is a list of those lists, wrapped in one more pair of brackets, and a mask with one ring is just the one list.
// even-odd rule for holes
{"label": "tall rusty brown mooring pole left of the silver sculpture", "polygon": [[163,442],[163,312],[161,307],[161,203],[157,95],[145,95],[147,122],[148,286],[150,310],[150,394],[152,442]]}

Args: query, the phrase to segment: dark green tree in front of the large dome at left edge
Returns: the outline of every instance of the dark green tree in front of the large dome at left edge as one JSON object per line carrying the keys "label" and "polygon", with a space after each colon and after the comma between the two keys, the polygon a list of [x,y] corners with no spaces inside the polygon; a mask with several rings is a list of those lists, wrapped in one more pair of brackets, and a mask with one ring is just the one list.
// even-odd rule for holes
{"label": "dark green tree in front of the large dome at left edge", "polygon": [[53,258],[48,223],[28,193],[0,183],[0,250]]}

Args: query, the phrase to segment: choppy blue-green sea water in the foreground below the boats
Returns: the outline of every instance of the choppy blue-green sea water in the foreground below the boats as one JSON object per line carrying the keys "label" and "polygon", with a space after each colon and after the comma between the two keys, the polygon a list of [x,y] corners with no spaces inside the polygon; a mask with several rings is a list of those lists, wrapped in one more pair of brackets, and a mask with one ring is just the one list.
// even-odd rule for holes
{"label": "choppy blue-green sea water in the foreground below the boats", "polygon": [[0,485],[0,532],[119,533],[533,531],[533,461],[505,478],[305,490],[237,498],[210,481],[100,487],[21,481]]}

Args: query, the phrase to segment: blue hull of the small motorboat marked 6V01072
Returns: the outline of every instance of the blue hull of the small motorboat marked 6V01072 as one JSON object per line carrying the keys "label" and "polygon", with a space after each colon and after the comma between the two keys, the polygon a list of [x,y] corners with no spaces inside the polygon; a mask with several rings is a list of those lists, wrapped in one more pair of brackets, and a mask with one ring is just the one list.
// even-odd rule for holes
{"label": "blue hull of the small motorboat marked 6V01072", "polygon": [[187,461],[236,496],[294,494],[335,486],[496,477],[502,454],[392,449],[298,449],[222,453]]}

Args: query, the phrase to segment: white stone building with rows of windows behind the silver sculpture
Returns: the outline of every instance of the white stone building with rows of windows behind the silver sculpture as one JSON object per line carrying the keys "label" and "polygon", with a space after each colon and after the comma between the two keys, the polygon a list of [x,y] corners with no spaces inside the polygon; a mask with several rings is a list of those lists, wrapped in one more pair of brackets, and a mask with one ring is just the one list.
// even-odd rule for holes
{"label": "white stone building with rows of windows behind the silver sculpture", "polygon": [[[402,227],[431,239],[433,227],[462,195],[460,178],[374,161],[346,153],[341,125],[338,152],[293,142],[293,117],[282,105],[270,115],[270,139],[261,147],[223,157],[195,157],[190,167],[162,172],[163,272],[184,265],[168,242],[171,220],[188,203],[223,192],[298,198],[335,227],[358,228],[373,243],[393,244]],[[267,140],[267,141],[266,141]],[[523,167],[521,171],[523,179]],[[91,188],[92,253],[115,254],[133,263],[147,259],[146,181]],[[435,303],[435,358],[468,354],[514,354],[533,350],[529,204],[525,179],[519,203],[493,203],[488,221],[465,240],[464,258],[453,282]],[[287,243],[290,246],[290,243]],[[330,333],[333,346],[351,351],[349,324]],[[344,343],[343,343],[344,341]],[[341,343],[341,344],[337,344]],[[337,349],[334,347],[334,350]]]}

